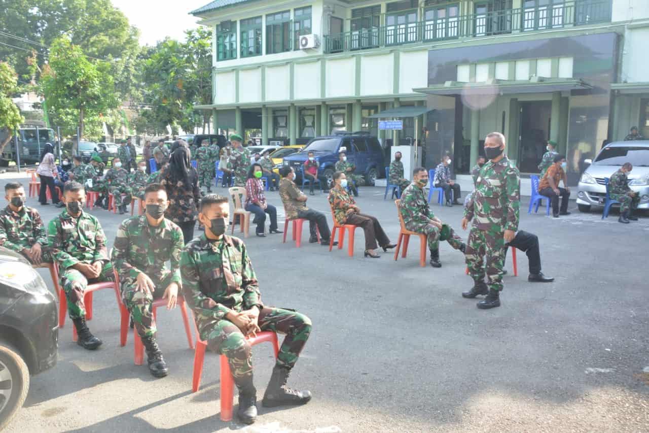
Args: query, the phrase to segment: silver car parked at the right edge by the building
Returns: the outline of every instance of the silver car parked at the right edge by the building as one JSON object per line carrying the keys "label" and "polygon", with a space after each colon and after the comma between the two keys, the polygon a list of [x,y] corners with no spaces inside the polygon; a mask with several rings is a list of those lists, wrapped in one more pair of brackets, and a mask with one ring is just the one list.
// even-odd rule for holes
{"label": "silver car parked at the right edge by the building", "polygon": [[640,194],[639,209],[649,209],[649,140],[617,141],[600,150],[579,179],[577,205],[582,212],[591,206],[604,206],[606,177],[611,177],[624,163],[633,164],[629,186]]}

